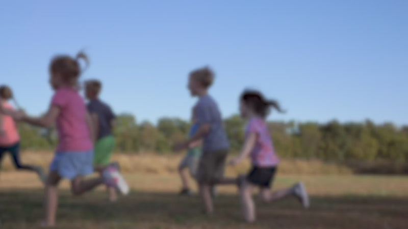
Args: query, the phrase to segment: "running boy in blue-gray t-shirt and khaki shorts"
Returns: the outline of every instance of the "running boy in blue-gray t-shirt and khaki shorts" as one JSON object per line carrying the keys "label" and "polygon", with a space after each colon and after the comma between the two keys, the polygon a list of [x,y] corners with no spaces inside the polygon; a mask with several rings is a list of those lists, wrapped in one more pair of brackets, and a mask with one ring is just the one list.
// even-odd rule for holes
{"label": "running boy in blue-gray t-shirt and khaki shorts", "polygon": [[199,97],[195,105],[199,128],[194,136],[175,147],[176,151],[180,151],[187,149],[192,142],[203,139],[197,182],[207,214],[214,211],[211,190],[215,185],[224,182],[225,160],[230,149],[221,112],[215,100],[208,94],[213,81],[214,73],[210,68],[201,68],[190,73],[188,88],[192,96]]}

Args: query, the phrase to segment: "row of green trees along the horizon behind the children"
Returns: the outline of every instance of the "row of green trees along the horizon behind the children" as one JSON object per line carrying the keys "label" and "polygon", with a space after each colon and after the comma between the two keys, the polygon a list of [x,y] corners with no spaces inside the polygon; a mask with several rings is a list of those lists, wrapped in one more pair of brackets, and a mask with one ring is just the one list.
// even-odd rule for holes
{"label": "row of green trees along the horizon behind the children", "polygon": [[[235,115],[226,118],[224,125],[232,151],[238,152],[244,141],[245,121]],[[376,125],[367,120],[325,124],[268,122],[268,127],[276,152],[284,158],[408,162],[408,126]],[[44,134],[44,130],[24,123],[19,123],[18,128],[25,150],[53,150],[57,144],[55,130]],[[190,123],[179,118],[162,118],[154,125],[138,123],[133,115],[122,114],[117,117],[114,129],[116,151],[171,153],[175,142],[187,137],[189,128]]]}

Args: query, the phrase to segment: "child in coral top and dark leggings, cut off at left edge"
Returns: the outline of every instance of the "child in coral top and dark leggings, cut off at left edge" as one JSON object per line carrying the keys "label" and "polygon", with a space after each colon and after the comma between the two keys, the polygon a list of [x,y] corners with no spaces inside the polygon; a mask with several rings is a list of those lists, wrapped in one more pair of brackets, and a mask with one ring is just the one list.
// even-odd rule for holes
{"label": "child in coral top and dark leggings, cut off at left edge", "polygon": [[[10,111],[14,111],[13,106],[8,102],[13,98],[13,92],[6,86],[0,86],[1,106]],[[34,171],[38,174],[40,180],[45,183],[46,176],[40,166],[22,164],[20,161],[20,136],[18,134],[16,123],[10,115],[0,114],[0,165],[5,153],[10,153],[14,166],[17,169]]]}

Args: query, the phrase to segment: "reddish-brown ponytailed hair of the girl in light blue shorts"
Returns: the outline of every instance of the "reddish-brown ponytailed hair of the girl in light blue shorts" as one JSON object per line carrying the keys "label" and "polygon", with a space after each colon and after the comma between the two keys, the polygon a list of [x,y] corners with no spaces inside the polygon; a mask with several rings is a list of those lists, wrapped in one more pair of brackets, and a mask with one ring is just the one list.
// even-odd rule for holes
{"label": "reddish-brown ponytailed hair of the girl in light blue shorts", "polygon": [[79,60],[82,59],[86,63],[86,68],[89,65],[88,56],[80,51],[75,58],[69,55],[57,55],[49,64],[49,71],[52,73],[60,73],[64,80],[76,83],[84,69],[81,69]]}

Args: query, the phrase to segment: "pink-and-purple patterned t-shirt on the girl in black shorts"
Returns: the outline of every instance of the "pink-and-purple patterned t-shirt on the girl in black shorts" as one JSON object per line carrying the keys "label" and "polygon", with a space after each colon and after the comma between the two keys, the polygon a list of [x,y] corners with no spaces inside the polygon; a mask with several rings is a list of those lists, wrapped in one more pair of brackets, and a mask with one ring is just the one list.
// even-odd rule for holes
{"label": "pink-and-purple patterned t-shirt on the girl in black shorts", "polygon": [[249,120],[246,127],[246,137],[250,133],[257,134],[257,141],[250,155],[252,165],[259,167],[276,166],[279,163],[279,158],[273,149],[272,138],[265,121],[260,117]]}

